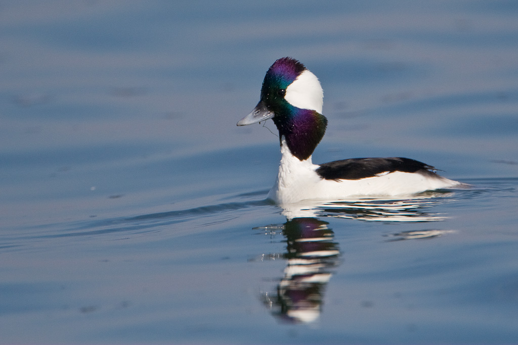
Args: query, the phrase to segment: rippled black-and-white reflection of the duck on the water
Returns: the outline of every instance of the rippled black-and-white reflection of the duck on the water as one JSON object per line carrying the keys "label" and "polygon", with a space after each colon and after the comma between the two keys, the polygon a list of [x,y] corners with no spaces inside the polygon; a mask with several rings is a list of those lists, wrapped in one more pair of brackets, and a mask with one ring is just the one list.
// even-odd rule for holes
{"label": "rippled black-and-white reflection of the duck on the water", "polygon": [[[284,275],[275,293],[263,292],[263,303],[282,321],[307,323],[319,318],[324,292],[333,268],[340,261],[340,249],[334,233],[324,217],[350,218],[364,221],[430,222],[442,220],[443,215],[430,212],[430,207],[445,202],[444,194],[422,198],[383,200],[342,200],[313,202],[284,206],[286,222],[282,226],[257,227],[270,234],[282,229],[286,252],[272,257],[287,260]],[[410,238],[431,238],[447,230],[419,230],[396,233],[390,241]]]}

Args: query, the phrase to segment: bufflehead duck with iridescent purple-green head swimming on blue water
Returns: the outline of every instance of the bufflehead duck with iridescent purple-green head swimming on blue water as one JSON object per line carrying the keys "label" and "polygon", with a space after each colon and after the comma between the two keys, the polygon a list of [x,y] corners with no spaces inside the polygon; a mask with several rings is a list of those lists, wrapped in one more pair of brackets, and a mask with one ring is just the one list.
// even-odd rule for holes
{"label": "bufflehead duck with iridescent purple-green head swimming on blue water", "polygon": [[246,126],[271,118],[279,130],[282,158],[269,199],[289,204],[308,199],[410,196],[466,186],[409,158],[351,158],[313,164],[311,155],[327,126],[323,97],[318,78],[296,59],[283,57],[266,72],[257,106],[237,123]]}

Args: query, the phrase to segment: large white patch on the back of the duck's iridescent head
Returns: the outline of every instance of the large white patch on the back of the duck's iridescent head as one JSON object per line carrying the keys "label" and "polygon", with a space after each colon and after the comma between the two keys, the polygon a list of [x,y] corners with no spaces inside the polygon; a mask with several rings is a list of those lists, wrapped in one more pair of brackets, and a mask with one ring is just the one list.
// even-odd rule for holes
{"label": "large white patch on the back of the duck's iridescent head", "polygon": [[319,79],[309,70],[305,70],[286,88],[284,99],[292,106],[310,109],[322,114],[324,91]]}

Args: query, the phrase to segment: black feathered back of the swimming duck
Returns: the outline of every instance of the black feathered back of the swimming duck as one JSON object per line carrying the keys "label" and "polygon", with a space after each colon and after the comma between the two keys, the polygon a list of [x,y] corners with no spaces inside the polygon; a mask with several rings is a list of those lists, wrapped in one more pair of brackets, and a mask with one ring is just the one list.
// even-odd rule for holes
{"label": "black feathered back of the swimming duck", "polygon": [[324,179],[361,179],[394,171],[435,175],[435,170],[434,167],[414,159],[389,157],[335,160],[321,164],[316,172]]}

